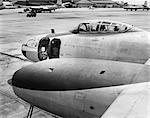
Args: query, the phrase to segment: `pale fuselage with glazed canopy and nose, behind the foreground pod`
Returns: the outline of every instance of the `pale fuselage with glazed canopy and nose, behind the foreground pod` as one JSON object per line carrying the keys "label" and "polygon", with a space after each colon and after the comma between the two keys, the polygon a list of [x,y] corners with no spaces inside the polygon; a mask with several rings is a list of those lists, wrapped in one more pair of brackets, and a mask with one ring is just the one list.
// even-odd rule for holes
{"label": "pale fuselage with glazed canopy and nose, behind the foreground pod", "polygon": [[145,63],[150,58],[150,39],[149,32],[125,23],[92,20],[80,23],[68,33],[30,39],[22,45],[22,53],[35,62],[90,58]]}

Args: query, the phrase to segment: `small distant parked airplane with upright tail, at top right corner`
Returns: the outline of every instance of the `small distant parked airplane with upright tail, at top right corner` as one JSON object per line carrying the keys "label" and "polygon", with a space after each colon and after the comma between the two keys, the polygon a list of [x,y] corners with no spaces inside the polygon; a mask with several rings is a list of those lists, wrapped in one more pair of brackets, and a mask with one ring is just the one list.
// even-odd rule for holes
{"label": "small distant parked airplane with upright tail, at top right corner", "polygon": [[127,5],[127,6],[124,6],[123,8],[126,9],[127,11],[128,10],[131,10],[131,11],[135,10],[135,11],[137,11],[138,9],[142,9],[143,11],[144,10],[148,11],[150,9],[147,6],[147,1],[145,1],[143,5]]}

